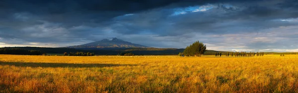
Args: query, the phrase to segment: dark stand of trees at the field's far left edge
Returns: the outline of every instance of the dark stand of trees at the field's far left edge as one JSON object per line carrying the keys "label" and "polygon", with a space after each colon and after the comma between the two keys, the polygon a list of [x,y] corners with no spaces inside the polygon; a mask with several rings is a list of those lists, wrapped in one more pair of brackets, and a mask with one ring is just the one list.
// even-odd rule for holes
{"label": "dark stand of trees at the field's far left edge", "polygon": [[26,50],[20,48],[1,48],[0,54],[15,54],[15,55],[41,55],[39,50]]}

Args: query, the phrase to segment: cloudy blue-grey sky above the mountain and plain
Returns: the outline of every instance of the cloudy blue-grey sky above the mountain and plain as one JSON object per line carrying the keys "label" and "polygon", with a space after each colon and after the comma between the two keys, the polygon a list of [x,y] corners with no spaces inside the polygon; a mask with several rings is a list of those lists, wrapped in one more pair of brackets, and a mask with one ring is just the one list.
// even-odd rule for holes
{"label": "cloudy blue-grey sky above the mountain and plain", "polygon": [[223,51],[298,52],[298,0],[0,0],[0,47],[67,47],[118,38],[195,41]]}

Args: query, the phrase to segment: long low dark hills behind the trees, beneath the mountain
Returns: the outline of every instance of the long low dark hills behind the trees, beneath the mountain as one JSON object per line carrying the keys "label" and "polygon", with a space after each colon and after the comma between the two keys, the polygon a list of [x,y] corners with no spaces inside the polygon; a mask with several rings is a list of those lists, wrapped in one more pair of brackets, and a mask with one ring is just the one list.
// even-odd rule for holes
{"label": "long low dark hills behind the trees, beneath the mountain", "polygon": [[[42,53],[48,54],[63,54],[64,52],[92,52],[96,55],[117,55],[121,52],[133,52],[136,55],[177,55],[183,52],[184,48],[104,48],[104,49],[77,49],[77,48],[52,48],[52,47],[2,47],[2,48],[21,48],[26,50],[40,50]],[[0,49],[2,49],[0,48]],[[215,51],[207,50],[204,55],[213,55]]]}

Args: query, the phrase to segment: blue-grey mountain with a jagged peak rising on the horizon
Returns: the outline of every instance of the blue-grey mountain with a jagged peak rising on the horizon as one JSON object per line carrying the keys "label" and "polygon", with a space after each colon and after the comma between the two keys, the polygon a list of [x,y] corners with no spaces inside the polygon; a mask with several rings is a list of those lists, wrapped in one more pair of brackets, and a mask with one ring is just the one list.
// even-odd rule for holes
{"label": "blue-grey mountain with a jagged peak rising on the horizon", "polygon": [[134,47],[149,48],[147,46],[133,44],[117,38],[104,39],[93,43],[88,43],[88,44],[79,45],[79,46],[71,46],[67,48],[97,49],[97,48],[134,48]]}

